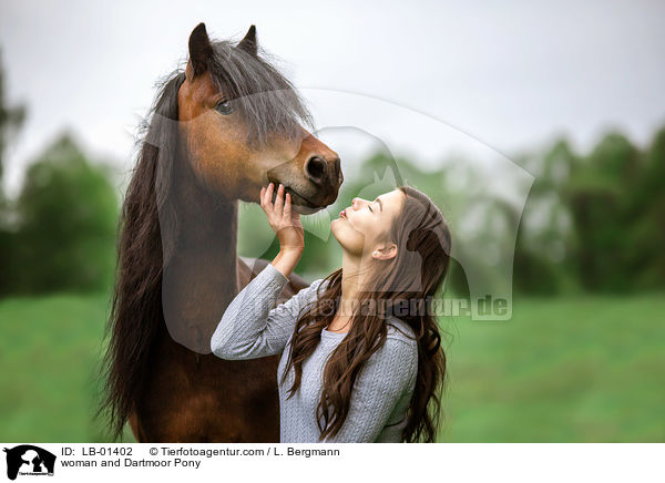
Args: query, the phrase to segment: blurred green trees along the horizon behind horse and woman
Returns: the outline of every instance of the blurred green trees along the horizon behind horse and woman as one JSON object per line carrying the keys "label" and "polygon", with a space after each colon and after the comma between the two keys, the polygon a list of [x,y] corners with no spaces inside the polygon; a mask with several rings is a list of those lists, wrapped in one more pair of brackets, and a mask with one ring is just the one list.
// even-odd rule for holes
{"label": "blurred green trees along the horizon behind horse and woman", "polygon": [[[0,71],[0,182],[6,147],[24,117],[23,106],[6,101]],[[386,169],[399,166],[400,176],[437,204],[458,206],[461,220],[472,210],[480,216],[474,234],[479,245],[467,245],[463,237],[458,240],[460,250],[471,250],[464,266],[453,260],[449,284],[458,294],[467,291],[471,271],[492,278],[492,265],[481,263],[488,251],[483,240],[490,239],[508,248],[499,254],[514,255],[511,284],[519,292],[631,292],[665,287],[665,127],[645,148],[612,132],[584,155],[560,138],[542,153],[519,156],[515,163],[535,178],[523,212],[491,197],[471,199],[472,206],[456,205],[460,197],[450,179],[459,178],[460,166],[468,168],[463,160],[458,161],[423,169],[411,160],[376,153],[345,182],[329,213],[349,206],[354,196],[372,198],[392,189],[396,179],[388,179]],[[462,186],[467,192],[475,174],[468,173]],[[16,198],[8,198],[1,186],[0,296],[111,288],[121,196],[110,167],[89,160],[65,133],[30,164]],[[241,210],[241,255],[270,258],[276,254],[277,240],[262,223],[264,217],[257,205]],[[341,256],[329,235],[329,219],[304,217],[304,224],[307,249],[298,271],[313,278],[337,268]],[[516,229],[514,246],[511,226]]]}

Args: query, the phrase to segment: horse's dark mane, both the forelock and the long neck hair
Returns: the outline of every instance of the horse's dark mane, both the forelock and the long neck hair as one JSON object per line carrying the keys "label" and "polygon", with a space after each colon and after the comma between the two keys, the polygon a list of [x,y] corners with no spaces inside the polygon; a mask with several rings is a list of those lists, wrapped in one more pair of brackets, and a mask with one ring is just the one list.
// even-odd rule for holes
{"label": "horse's dark mane, both the forelock and the long neck hair", "polygon": [[[291,84],[269,63],[227,41],[213,43],[212,79],[237,103],[248,127],[247,143],[260,147],[268,134],[297,134],[309,113]],[[100,377],[96,419],[108,415],[113,439],[122,435],[154,367],[151,352],[164,326],[162,274],[177,248],[177,213],[171,203],[178,153],[178,90],[182,69],[161,85],[149,115],[119,220],[117,268],[104,338],[111,335]],[[162,239],[163,233],[175,234]]]}

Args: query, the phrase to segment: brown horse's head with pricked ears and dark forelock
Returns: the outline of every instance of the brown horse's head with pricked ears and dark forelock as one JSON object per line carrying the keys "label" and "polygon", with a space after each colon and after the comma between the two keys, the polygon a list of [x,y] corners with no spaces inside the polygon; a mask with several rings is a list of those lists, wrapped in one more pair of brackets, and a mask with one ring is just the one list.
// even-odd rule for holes
{"label": "brown horse's head with pricked ears and dark forelock", "polygon": [[178,125],[204,186],[259,203],[262,186],[282,183],[303,214],[334,203],[339,156],[300,125],[308,121],[290,83],[259,58],[254,25],[237,45],[211,42],[203,23],[192,31]]}

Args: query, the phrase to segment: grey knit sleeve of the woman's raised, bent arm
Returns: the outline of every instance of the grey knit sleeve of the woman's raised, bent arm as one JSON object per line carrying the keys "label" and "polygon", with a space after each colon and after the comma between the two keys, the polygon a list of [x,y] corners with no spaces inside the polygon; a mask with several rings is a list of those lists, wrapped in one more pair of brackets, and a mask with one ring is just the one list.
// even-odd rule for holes
{"label": "grey knit sleeve of the woman's raised, bent arm", "polygon": [[268,264],[228,305],[211,338],[211,350],[227,360],[282,353],[300,309],[316,300],[321,281],[315,280],[272,309],[288,278]]}

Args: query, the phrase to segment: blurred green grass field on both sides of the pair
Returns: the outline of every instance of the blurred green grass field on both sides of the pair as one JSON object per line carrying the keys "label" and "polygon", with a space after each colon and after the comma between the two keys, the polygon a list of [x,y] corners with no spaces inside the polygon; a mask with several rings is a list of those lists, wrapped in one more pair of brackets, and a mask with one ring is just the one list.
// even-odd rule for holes
{"label": "blurred green grass field on both sides of the pair", "polygon": [[[92,420],[106,311],[105,296],[0,301],[0,440],[108,441]],[[664,314],[653,295],[518,299],[510,321],[443,320],[439,441],[665,441]]]}

